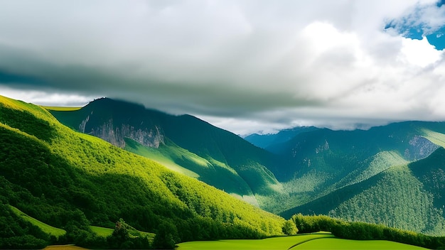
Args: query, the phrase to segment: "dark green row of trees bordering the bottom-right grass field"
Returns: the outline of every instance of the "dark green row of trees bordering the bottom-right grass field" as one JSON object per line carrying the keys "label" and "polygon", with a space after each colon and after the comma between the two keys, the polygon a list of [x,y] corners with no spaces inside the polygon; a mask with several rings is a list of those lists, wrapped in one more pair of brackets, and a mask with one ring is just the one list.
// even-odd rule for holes
{"label": "dark green row of trees bordering the bottom-right grass field", "polygon": [[295,214],[291,217],[299,233],[327,231],[336,237],[358,240],[387,240],[403,244],[422,246],[427,249],[444,249],[445,237],[432,237],[416,232],[386,227],[365,222],[345,222],[325,215],[306,216]]}

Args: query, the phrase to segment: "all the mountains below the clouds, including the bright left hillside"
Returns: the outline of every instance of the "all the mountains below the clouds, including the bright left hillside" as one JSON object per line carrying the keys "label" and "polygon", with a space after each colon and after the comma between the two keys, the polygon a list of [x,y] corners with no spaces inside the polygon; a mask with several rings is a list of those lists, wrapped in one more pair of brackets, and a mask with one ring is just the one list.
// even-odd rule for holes
{"label": "all the mountains below the clouds, including the bright left hillside", "polygon": [[[9,148],[0,157],[4,203],[55,226],[76,207],[75,216],[90,224],[110,227],[125,217],[146,232],[157,232],[155,222],[178,219],[181,240],[209,239],[198,229],[199,235],[182,231],[192,221],[219,218],[277,234],[284,219],[298,213],[445,234],[444,122],[352,131],[297,127],[241,138],[194,116],[114,99],[60,111],[6,97],[0,122],[3,148]],[[139,193],[140,187],[146,188]],[[240,206],[246,208],[240,212]],[[58,212],[41,212],[50,210]]]}

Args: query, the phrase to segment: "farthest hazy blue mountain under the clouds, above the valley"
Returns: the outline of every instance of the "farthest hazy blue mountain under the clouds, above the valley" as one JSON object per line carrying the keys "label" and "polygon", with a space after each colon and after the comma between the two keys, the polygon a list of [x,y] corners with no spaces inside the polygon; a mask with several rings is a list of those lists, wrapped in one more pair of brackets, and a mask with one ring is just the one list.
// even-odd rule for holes
{"label": "farthest hazy blue mountain under the clouds, above the valley", "polygon": [[293,129],[283,129],[277,134],[250,134],[244,138],[254,146],[265,149],[270,148],[273,150],[276,144],[285,143],[291,138],[294,138],[297,134],[316,129],[317,128],[314,126],[301,126]]}

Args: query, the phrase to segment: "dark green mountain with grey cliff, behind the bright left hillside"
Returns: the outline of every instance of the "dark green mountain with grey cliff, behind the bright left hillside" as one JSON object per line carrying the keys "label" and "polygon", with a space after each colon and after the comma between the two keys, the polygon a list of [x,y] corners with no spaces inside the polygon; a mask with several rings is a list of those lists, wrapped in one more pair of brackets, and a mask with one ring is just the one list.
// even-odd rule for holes
{"label": "dark green mountain with grey cliff, behind the bright left hillside", "polygon": [[254,205],[258,205],[255,195],[282,192],[269,171],[278,165],[272,153],[194,116],[173,116],[108,98],[75,111],[50,112],[77,131],[151,158]]}

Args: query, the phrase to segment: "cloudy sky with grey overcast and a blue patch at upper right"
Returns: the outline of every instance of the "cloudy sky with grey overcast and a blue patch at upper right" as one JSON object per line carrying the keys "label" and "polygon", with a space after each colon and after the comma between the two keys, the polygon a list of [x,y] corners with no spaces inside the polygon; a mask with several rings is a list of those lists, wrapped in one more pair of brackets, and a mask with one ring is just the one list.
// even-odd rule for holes
{"label": "cloudy sky with grey overcast and a blue patch at upper right", "polygon": [[441,1],[0,1],[0,94],[235,134],[445,120]]}

